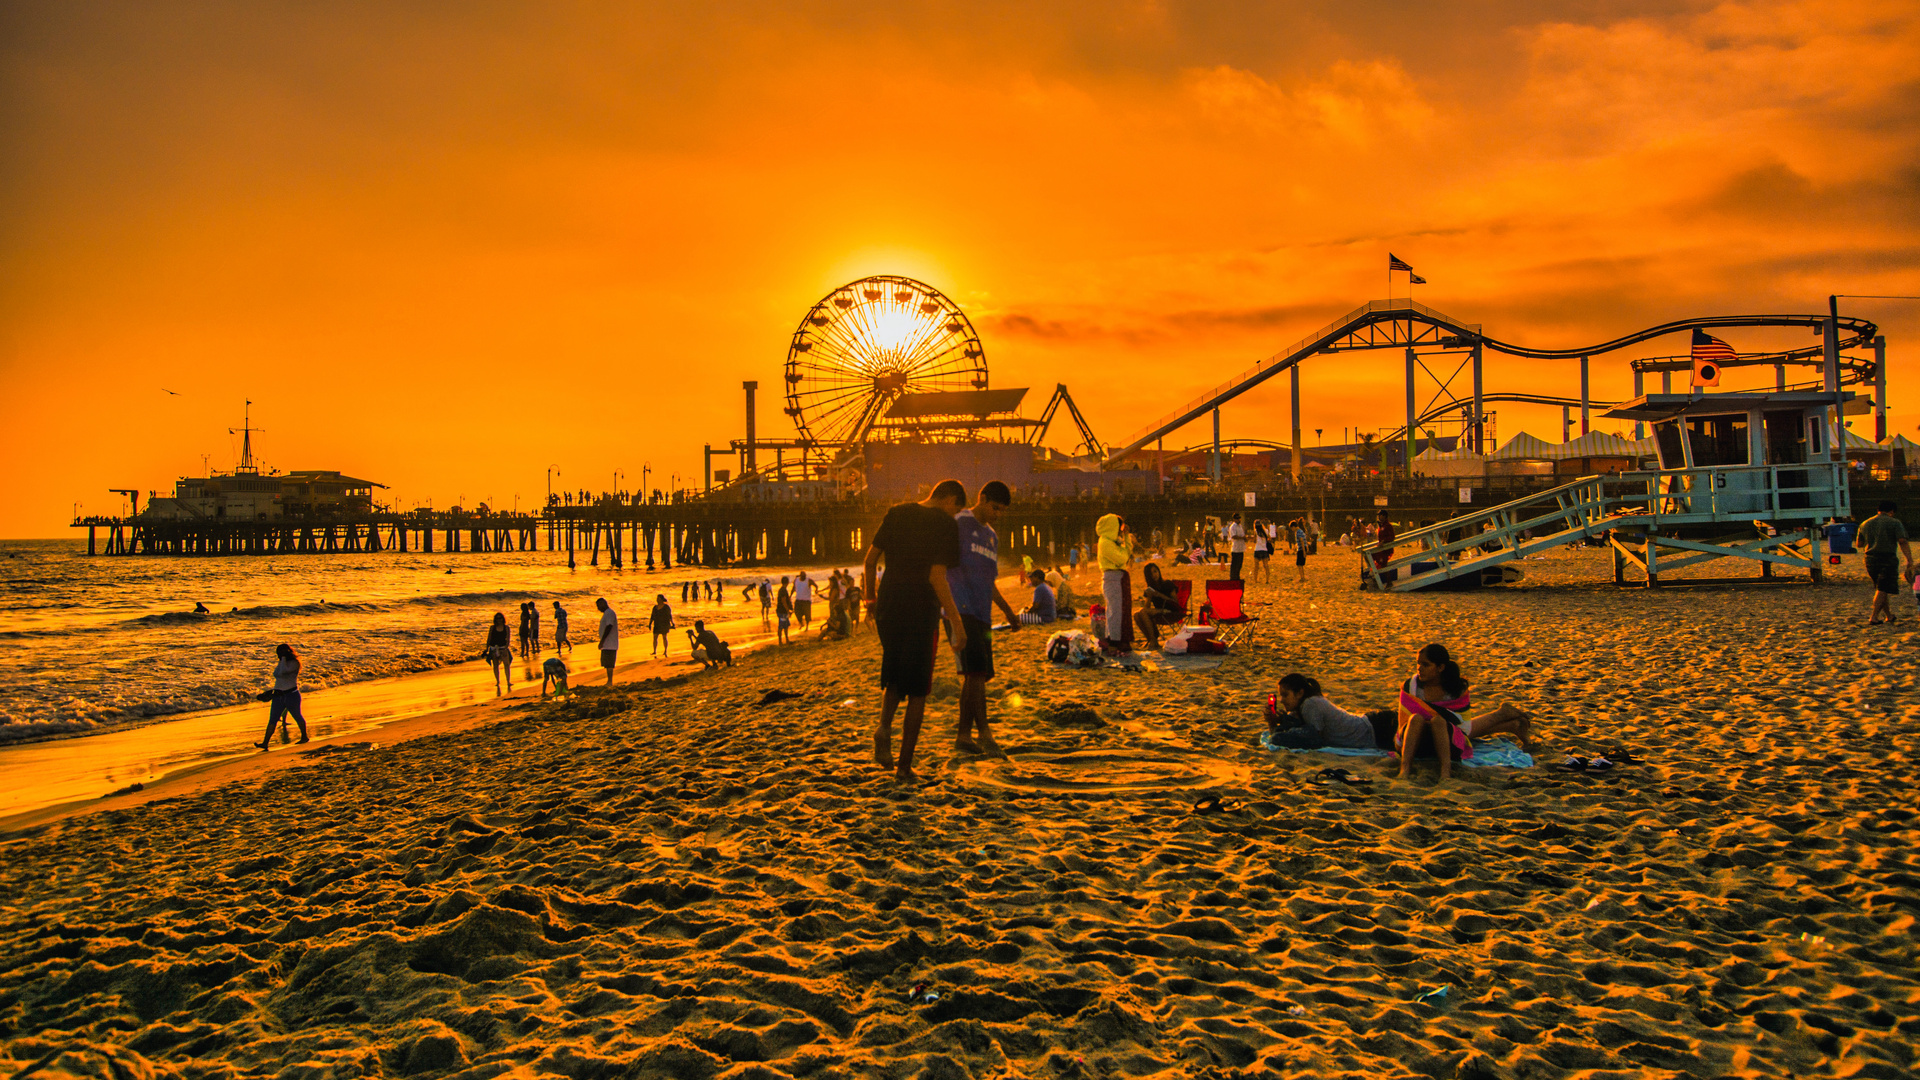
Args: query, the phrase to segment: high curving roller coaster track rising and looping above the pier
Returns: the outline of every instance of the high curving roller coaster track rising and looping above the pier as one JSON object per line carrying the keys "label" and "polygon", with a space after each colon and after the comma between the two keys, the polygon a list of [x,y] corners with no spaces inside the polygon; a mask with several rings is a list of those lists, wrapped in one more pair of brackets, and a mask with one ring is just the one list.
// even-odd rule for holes
{"label": "high curving roller coaster track rising and looping above the pier", "polygon": [[[1156,438],[1164,438],[1165,434],[1187,427],[1188,423],[1238,398],[1240,394],[1252,390],[1254,386],[1265,382],[1267,379],[1273,379],[1275,375],[1306,361],[1306,357],[1321,352],[1415,348],[1415,346],[1427,346],[1427,348],[1482,346],[1523,359],[1580,359],[1588,356],[1632,348],[1645,340],[1693,329],[1705,329],[1705,331],[1724,329],[1724,327],[1809,327],[1811,329],[1822,325],[1826,325],[1826,315],[1705,315],[1699,319],[1678,319],[1672,323],[1647,327],[1644,331],[1613,338],[1611,342],[1601,342],[1597,346],[1542,350],[1490,338],[1484,332],[1480,332],[1478,323],[1461,323],[1452,315],[1427,307],[1425,304],[1415,304],[1411,300],[1373,300],[1348,311],[1344,317],[1321,327],[1319,331],[1300,338],[1290,348],[1281,350],[1269,356],[1267,359],[1261,359],[1254,367],[1242,371],[1238,377],[1221,382],[1219,386],[1194,398],[1181,409],[1167,413],[1158,423],[1133,434],[1119,446],[1114,446],[1106,455],[1106,463],[1116,465],[1129,454],[1144,448],[1148,442],[1154,442]],[[1841,350],[1872,344],[1876,332],[1878,327],[1866,319],[1857,319],[1849,315],[1839,317]],[[1803,363],[1807,361],[1807,357],[1818,354],[1820,346],[1786,350],[1776,354],[1749,354],[1741,356],[1736,361],[1736,365]],[[1851,379],[1847,379],[1849,375]],[[1857,365],[1849,365],[1841,373],[1843,382],[1859,382],[1860,379],[1862,371]],[[1490,398],[1482,396],[1482,400]]]}

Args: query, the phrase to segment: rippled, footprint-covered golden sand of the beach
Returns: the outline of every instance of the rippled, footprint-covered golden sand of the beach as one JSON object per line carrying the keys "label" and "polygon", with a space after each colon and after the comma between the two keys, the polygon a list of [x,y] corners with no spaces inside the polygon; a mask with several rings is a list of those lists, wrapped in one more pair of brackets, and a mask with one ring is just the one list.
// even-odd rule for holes
{"label": "rippled, footprint-covered golden sand of the beach", "polygon": [[[1910,1076],[1912,607],[1864,626],[1857,559],[1822,588],[1526,571],[1375,596],[1340,550],[1275,565],[1210,673],[1002,634],[1012,761],[954,753],[943,675],[912,788],[866,757],[864,630],[25,824],[0,1072]],[[1380,707],[1434,640],[1538,713],[1540,765],[1258,748],[1281,675]]]}

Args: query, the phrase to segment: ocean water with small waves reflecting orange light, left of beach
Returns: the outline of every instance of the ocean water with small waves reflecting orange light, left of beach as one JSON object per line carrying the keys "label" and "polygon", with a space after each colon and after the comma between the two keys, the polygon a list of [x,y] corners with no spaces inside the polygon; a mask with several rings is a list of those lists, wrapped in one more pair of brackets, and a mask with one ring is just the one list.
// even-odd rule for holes
{"label": "ocean water with small waves reflecting orange light, left of beach", "polygon": [[568,571],[551,552],[86,557],[83,542],[0,540],[0,744],[248,701],[273,684],[280,642],[301,657],[303,690],[468,661],[495,611],[518,634],[524,600],[549,644],[559,600],[591,655],[605,596],[630,651],[655,594],[680,609],[680,580],[718,578],[732,586],[718,613],[737,617],[762,573],[791,571]]}

